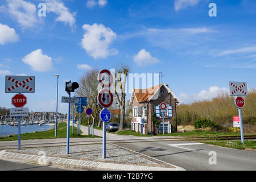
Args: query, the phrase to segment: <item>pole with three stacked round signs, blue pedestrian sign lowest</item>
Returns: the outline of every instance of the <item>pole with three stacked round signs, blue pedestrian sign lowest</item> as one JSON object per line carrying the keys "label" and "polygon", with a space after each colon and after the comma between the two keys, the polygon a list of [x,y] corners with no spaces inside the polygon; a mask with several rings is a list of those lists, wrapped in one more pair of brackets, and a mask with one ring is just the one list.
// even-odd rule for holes
{"label": "pole with three stacked round signs, blue pedestrian sign lowest", "polygon": [[113,94],[110,92],[110,86],[113,84],[113,75],[108,69],[102,69],[98,73],[98,82],[102,86],[102,89],[98,92],[97,100],[104,109],[100,112],[100,119],[103,122],[102,129],[102,158],[106,158],[106,123],[111,119],[111,113],[107,109],[113,104]]}

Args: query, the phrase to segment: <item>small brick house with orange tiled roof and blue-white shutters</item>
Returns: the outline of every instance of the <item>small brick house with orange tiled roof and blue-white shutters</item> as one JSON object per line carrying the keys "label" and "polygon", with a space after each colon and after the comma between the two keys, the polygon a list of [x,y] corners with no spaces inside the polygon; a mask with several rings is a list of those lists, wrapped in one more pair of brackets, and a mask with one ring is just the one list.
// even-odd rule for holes
{"label": "small brick house with orange tiled roof and blue-white shutters", "polygon": [[[164,102],[167,105],[165,110],[160,109],[160,104]],[[179,100],[175,96],[174,92],[168,85],[159,84],[147,89],[133,89],[130,98],[130,105],[133,107],[133,121],[131,122],[131,129],[139,131],[142,134],[148,133],[160,133],[163,132],[163,113],[164,113],[164,131],[165,133],[171,133],[171,124],[175,123],[175,131],[177,131],[176,125],[176,105]],[[151,114],[156,113],[156,117],[160,120],[158,128],[153,127],[151,122]]]}

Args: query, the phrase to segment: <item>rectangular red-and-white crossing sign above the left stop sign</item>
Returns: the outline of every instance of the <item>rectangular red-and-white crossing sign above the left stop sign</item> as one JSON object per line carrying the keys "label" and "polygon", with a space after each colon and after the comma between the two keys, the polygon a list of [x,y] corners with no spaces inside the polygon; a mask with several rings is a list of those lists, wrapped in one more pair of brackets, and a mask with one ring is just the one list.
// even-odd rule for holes
{"label": "rectangular red-and-white crossing sign above the left stop sign", "polygon": [[34,93],[35,76],[5,76],[5,93]]}

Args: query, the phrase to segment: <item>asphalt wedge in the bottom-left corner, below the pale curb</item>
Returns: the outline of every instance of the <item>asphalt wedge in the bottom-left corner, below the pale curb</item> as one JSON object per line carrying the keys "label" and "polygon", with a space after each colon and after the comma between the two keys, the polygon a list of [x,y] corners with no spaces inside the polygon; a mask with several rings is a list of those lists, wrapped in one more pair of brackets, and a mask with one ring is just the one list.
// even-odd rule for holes
{"label": "asphalt wedge in the bottom-left corner, below the pale curb", "polygon": [[0,160],[0,171],[67,171],[68,169],[61,169],[49,166],[38,166],[36,164],[9,162]]}

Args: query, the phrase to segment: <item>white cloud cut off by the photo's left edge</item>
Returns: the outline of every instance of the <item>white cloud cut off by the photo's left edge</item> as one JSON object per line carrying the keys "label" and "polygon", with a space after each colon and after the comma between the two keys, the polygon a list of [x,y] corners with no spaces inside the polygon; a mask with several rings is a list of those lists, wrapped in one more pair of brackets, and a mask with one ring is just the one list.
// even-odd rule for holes
{"label": "white cloud cut off by the photo's left edge", "polygon": [[14,28],[0,23],[0,44],[13,43],[19,40]]}

